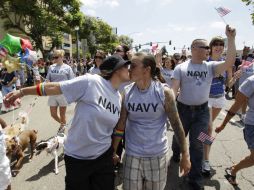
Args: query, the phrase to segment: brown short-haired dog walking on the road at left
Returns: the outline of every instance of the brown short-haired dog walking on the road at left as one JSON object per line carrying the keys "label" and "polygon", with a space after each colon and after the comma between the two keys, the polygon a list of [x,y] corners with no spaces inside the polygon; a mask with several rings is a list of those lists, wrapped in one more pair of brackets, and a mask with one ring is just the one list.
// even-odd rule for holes
{"label": "brown short-haired dog walking on the road at left", "polygon": [[16,176],[21,169],[21,164],[25,157],[24,150],[28,147],[29,144],[31,148],[29,161],[32,160],[36,145],[36,139],[37,131],[35,130],[24,130],[17,137],[6,139],[6,155],[9,157],[10,161],[12,156],[17,158],[17,162],[14,165],[14,170],[12,172],[13,176]]}

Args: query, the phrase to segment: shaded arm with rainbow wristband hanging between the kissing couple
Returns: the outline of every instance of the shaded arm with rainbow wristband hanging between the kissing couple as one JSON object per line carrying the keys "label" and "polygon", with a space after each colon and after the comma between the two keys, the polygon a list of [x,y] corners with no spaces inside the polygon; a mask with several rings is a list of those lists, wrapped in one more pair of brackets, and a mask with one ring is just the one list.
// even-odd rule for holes
{"label": "shaded arm with rainbow wristband hanging between the kissing couple", "polygon": [[[120,113],[120,119],[118,120],[117,125],[115,127],[117,130],[124,131],[125,125],[126,125],[127,116],[128,116],[128,112],[127,112],[127,110],[126,110],[126,108],[124,106],[124,94],[123,94],[122,95],[122,108],[121,108],[121,113]],[[119,157],[117,156],[116,151],[117,151],[117,147],[119,145],[119,142],[121,140],[122,140],[121,137],[113,135],[112,146],[114,148],[113,160],[114,160],[115,164],[119,161]]]}

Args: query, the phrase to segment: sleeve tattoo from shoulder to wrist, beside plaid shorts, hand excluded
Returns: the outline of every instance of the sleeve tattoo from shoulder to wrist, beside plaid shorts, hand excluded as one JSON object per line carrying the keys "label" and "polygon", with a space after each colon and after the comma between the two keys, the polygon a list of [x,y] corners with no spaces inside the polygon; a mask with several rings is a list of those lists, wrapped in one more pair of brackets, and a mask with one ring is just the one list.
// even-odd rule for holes
{"label": "sleeve tattoo from shoulder to wrist, beside plaid shorts, hand excluded", "polygon": [[185,132],[177,111],[175,96],[173,91],[168,88],[165,89],[165,110],[182,153],[187,152]]}

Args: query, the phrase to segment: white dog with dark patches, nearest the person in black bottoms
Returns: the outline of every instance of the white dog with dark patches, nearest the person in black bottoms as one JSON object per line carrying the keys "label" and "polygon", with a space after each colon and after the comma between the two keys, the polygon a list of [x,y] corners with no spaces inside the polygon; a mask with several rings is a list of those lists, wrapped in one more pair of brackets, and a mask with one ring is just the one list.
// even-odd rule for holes
{"label": "white dog with dark patches, nearest the person in black bottoms", "polygon": [[66,135],[64,133],[58,133],[56,136],[49,138],[48,140],[42,140],[36,144],[36,155],[39,155],[43,150],[50,153],[55,158],[55,174],[59,173],[58,170],[58,150],[60,147],[64,148],[64,141]]}

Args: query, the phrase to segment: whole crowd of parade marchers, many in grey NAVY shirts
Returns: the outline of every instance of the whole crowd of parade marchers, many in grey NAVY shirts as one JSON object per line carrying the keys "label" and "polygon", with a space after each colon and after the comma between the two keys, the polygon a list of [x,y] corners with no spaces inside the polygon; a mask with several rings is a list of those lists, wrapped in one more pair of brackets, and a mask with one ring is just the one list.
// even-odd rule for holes
{"label": "whole crowd of parade marchers, many in grey NAVY shirts", "polygon": [[[246,49],[241,59],[236,58],[235,29],[227,26],[226,36],[226,54],[221,37],[209,43],[193,40],[191,56],[132,53],[119,45],[112,56],[98,50],[93,60],[75,63],[56,50],[53,64],[34,63],[34,86],[24,87],[25,80],[16,73],[1,77],[4,105],[26,95],[50,96],[51,116],[64,131],[67,105],[76,103],[65,142],[66,190],[113,190],[120,162],[124,190],[163,190],[169,141],[181,175],[187,176],[192,189],[202,190],[203,176],[211,173],[211,144],[201,142],[199,135],[220,133],[242,108],[250,155],[225,170],[229,183],[237,185],[237,172],[254,165],[254,64]],[[22,82],[15,90],[18,80]],[[213,129],[230,91],[235,103],[221,126]],[[167,126],[174,131],[173,139],[167,137]]]}

